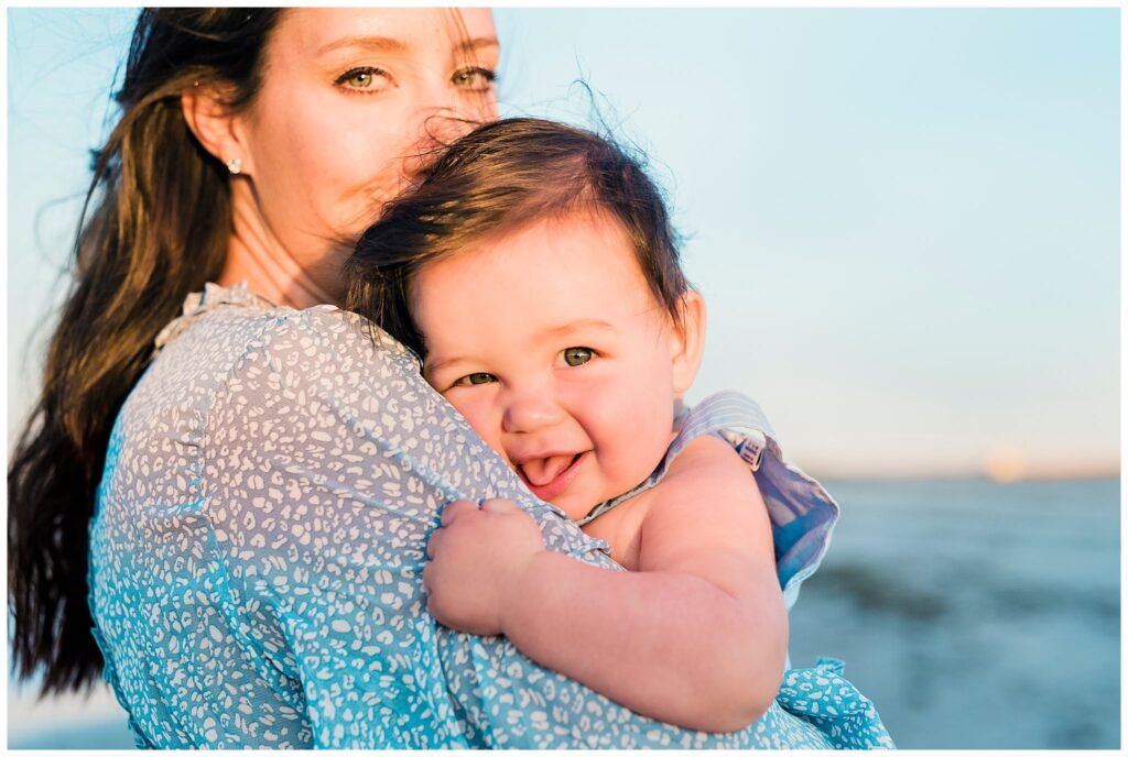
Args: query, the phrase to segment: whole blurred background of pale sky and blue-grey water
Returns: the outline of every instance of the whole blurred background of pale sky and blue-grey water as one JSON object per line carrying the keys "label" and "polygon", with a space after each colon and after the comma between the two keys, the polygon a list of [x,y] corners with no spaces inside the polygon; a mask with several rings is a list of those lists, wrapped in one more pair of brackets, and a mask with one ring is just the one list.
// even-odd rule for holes
{"label": "whole blurred background of pale sky and blue-grey water", "polygon": [[[793,662],[901,747],[1120,746],[1119,14],[496,11],[505,115],[650,154],[710,308],[690,401],[756,398],[843,507]],[[135,16],[7,10],[9,446]],[[8,745],[132,739],[9,675]]]}

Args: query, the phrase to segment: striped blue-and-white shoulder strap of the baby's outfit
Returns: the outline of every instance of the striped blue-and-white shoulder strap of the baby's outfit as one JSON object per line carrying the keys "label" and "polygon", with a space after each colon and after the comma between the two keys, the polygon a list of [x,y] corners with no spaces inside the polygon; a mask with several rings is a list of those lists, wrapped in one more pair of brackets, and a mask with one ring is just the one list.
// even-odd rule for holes
{"label": "striped blue-and-white shoulder strap of the baby's outfit", "polygon": [[800,585],[818,569],[830,545],[838,504],[818,481],[784,461],[767,416],[759,404],[739,392],[719,392],[702,400],[678,418],[676,430],[666,457],[650,478],[631,491],[597,505],[578,523],[589,523],[658,484],[686,445],[699,436],[715,434],[732,445],[756,477],[772,520],[779,586],[791,609],[799,598]]}

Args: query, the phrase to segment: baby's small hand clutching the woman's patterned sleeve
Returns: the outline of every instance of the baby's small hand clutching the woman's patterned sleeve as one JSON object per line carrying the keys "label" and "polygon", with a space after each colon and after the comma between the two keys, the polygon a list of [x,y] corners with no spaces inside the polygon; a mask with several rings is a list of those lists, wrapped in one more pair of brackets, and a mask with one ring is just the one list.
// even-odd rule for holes
{"label": "baby's small hand clutching the woman's patterned sleeve", "polygon": [[528,563],[545,551],[536,522],[511,500],[487,499],[481,509],[453,501],[440,523],[423,567],[428,611],[457,631],[503,633],[506,600]]}

